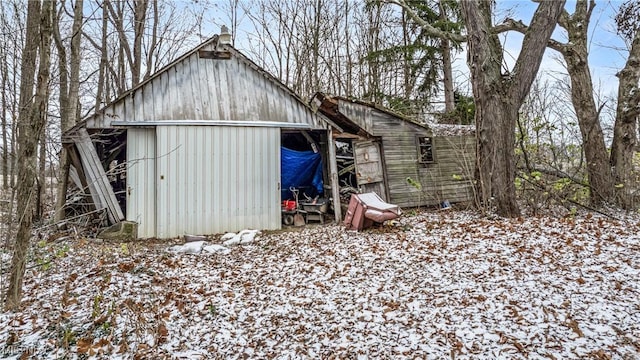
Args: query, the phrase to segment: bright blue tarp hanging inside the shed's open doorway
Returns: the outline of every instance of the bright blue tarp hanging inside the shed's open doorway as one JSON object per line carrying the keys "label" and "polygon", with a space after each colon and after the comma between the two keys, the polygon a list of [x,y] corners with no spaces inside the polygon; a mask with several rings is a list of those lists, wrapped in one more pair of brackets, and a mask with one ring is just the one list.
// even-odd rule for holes
{"label": "bright blue tarp hanging inside the shed's open doorway", "polygon": [[293,199],[290,187],[300,188],[302,193],[315,197],[324,191],[322,183],[322,157],[313,151],[296,151],[280,148],[281,198]]}

